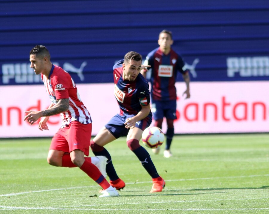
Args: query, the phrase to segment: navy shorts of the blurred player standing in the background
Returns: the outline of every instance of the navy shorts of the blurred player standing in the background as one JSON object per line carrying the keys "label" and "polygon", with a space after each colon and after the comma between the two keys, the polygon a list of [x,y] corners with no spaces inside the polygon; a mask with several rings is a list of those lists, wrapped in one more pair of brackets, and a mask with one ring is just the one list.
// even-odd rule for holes
{"label": "navy shorts of the blurred player standing in the background", "polygon": [[163,119],[164,117],[167,119],[177,119],[176,110],[177,110],[177,101],[169,100],[169,101],[157,101],[151,100],[151,111],[153,114],[153,118],[155,120]]}

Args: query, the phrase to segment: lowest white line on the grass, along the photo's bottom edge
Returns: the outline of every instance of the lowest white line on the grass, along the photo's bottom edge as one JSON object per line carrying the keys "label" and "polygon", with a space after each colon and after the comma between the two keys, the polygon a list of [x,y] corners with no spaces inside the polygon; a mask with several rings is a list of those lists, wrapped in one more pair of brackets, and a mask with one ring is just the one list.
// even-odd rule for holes
{"label": "lowest white line on the grass, along the photo's bottom edge", "polygon": [[204,210],[269,210],[268,207],[265,208],[224,208],[224,209],[214,209],[214,208],[202,208],[202,209],[195,209],[195,208],[189,208],[189,209],[95,209],[95,208],[55,208],[55,207],[7,207],[7,206],[1,206],[0,208],[4,208],[1,210],[123,210],[123,211],[163,211],[163,210],[180,210],[180,211],[204,211]]}

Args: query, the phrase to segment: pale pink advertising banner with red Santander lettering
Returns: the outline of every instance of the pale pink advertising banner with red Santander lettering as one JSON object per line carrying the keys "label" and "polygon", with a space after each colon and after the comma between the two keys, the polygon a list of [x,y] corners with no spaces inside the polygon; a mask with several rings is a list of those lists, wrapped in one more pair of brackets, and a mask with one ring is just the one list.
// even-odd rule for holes
{"label": "pale pink advertising banner with red Santander lettering", "polygon": [[[268,85],[269,81],[192,82],[191,98],[184,99],[185,83],[176,83],[175,133],[269,132]],[[92,135],[96,135],[119,113],[114,84],[77,84],[77,88],[91,113]],[[23,121],[25,111],[50,105],[43,85],[0,86],[0,92],[0,138],[53,136],[60,128],[59,115],[50,117],[49,130],[40,131],[38,122]]]}

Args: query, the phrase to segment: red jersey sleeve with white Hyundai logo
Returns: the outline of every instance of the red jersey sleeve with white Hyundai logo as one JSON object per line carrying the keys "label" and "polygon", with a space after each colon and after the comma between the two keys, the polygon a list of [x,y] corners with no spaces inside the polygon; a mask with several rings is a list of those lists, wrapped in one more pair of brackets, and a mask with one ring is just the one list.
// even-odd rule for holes
{"label": "red jersey sleeve with white Hyundai logo", "polygon": [[69,98],[69,88],[72,84],[71,76],[67,74],[55,75],[51,79],[52,87],[54,88],[54,93],[56,100],[68,99]]}

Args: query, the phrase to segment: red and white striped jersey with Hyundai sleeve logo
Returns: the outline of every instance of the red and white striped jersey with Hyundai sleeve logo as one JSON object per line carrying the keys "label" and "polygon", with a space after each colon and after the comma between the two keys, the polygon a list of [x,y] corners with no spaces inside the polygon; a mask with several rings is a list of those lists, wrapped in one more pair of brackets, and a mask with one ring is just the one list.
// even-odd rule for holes
{"label": "red and white striped jersey with Hyundai sleeve logo", "polygon": [[59,99],[69,99],[69,109],[60,114],[62,128],[68,126],[71,121],[79,121],[82,124],[91,123],[91,115],[80,99],[76,84],[71,76],[59,66],[52,65],[49,78],[41,74],[45,89],[53,104]]}

